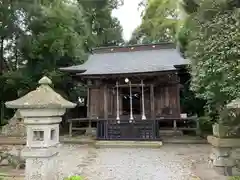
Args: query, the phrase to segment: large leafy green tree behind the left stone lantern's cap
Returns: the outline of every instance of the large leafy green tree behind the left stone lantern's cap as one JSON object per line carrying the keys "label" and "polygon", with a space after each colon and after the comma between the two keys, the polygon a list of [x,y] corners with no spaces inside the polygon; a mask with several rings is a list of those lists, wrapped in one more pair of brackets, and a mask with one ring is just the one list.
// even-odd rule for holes
{"label": "large leafy green tree behind the left stone lantern's cap", "polygon": [[[9,43],[5,43],[4,53],[8,55],[5,60],[9,60],[10,67],[19,59],[23,64],[5,71],[0,77],[1,101],[13,100],[34,89],[43,75],[50,76],[63,95],[75,95],[72,79],[60,73],[58,68],[86,59],[84,44],[89,31],[81,7],[60,0],[14,5],[17,8],[12,13],[22,19],[19,24],[24,32],[16,38],[16,32],[7,31],[9,36],[5,42]],[[5,15],[3,18],[7,18]],[[17,24],[17,20],[11,19],[9,24]],[[16,43],[12,46],[10,42]],[[20,65],[19,61],[17,64]],[[1,116],[3,119],[3,110]]]}

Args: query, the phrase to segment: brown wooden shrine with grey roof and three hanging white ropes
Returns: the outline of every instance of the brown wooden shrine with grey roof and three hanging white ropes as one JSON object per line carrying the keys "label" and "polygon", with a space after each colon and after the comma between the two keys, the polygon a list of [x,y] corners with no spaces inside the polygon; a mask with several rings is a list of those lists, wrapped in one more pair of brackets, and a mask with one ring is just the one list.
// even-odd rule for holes
{"label": "brown wooden shrine with grey roof and three hanging white ropes", "polygon": [[98,122],[99,138],[143,140],[158,138],[158,119],[180,118],[177,67],[187,64],[164,43],[97,48],[84,64],[61,70],[87,84],[87,118]]}

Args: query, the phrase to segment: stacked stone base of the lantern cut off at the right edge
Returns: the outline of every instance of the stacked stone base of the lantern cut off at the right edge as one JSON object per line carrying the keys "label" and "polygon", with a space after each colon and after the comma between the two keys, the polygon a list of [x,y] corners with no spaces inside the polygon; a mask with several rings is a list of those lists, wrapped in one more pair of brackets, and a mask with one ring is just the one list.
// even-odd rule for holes
{"label": "stacked stone base of the lantern cut off at the right edge", "polygon": [[221,175],[240,176],[240,139],[208,137],[210,163]]}

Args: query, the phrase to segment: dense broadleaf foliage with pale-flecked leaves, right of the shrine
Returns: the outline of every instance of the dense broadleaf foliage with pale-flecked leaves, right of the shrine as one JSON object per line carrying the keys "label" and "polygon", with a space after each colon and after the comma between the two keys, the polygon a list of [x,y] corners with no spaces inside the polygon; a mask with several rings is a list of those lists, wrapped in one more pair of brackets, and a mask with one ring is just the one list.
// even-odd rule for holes
{"label": "dense broadleaf foliage with pale-flecked leaves, right of the shrine", "polygon": [[219,111],[226,102],[239,96],[239,17],[237,11],[217,16],[211,24],[203,24],[198,37],[189,44],[192,90],[217,103]]}

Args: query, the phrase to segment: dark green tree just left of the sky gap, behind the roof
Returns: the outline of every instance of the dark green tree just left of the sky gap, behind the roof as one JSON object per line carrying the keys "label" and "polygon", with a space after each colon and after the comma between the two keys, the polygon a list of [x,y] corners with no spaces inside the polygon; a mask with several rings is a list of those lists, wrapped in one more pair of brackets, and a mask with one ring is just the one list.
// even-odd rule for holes
{"label": "dark green tree just left of the sky gap, behind the roof", "polygon": [[85,10],[85,20],[90,27],[91,39],[88,47],[121,45],[122,27],[118,19],[111,16],[112,10],[122,4],[119,0],[78,1]]}

